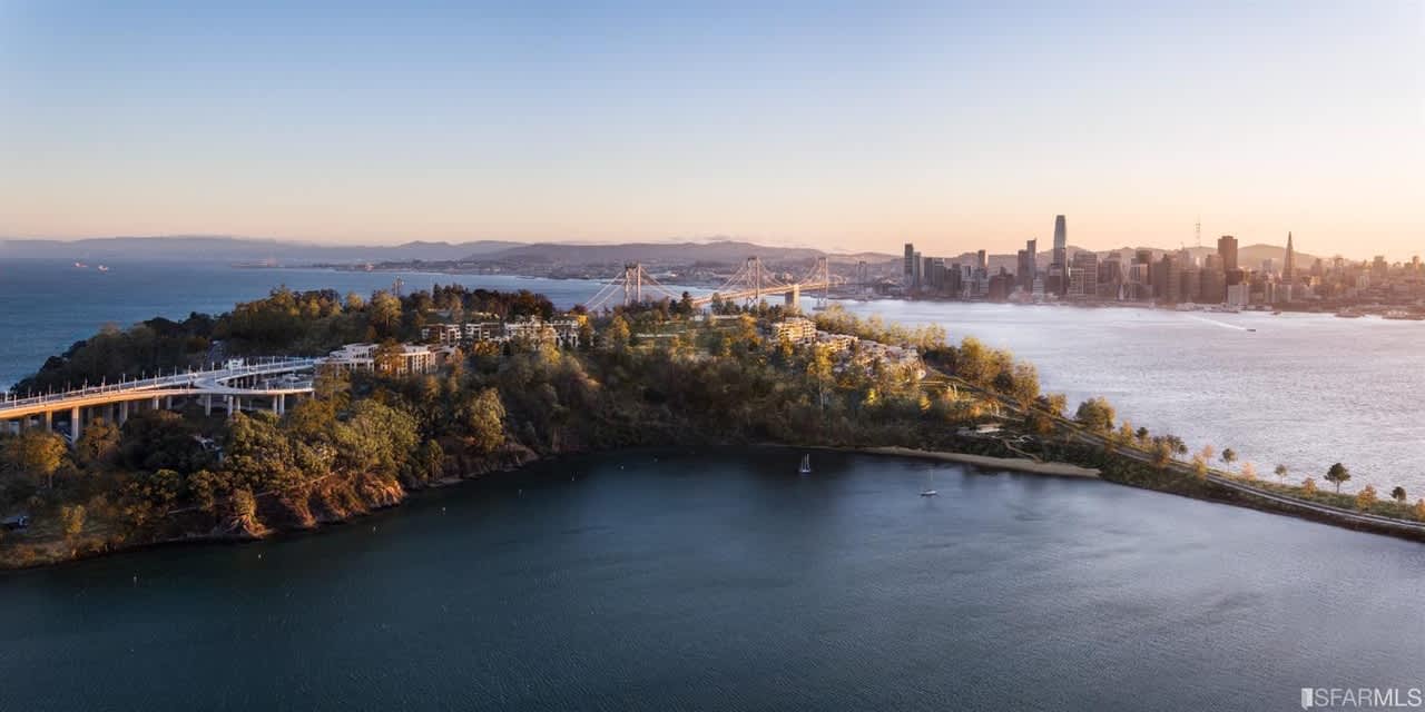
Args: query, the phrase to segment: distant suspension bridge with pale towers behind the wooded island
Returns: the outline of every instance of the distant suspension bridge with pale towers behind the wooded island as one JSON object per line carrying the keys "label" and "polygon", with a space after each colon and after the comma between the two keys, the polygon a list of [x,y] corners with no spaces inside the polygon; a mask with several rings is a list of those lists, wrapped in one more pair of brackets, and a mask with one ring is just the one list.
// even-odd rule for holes
{"label": "distant suspension bridge with pale towers behind the wooded island", "polygon": [[[789,275],[788,275],[789,276]],[[775,272],[770,272],[762,265],[761,258],[751,256],[722,283],[710,293],[691,296],[694,306],[707,306],[714,299],[724,302],[758,303],[768,296],[784,296],[788,305],[797,305],[802,293],[817,295],[818,305],[825,305],[831,296],[831,286],[841,283],[841,278],[834,278],[826,268],[826,258],[819,256],[811,269],[799,279],[782,279]],[[819,293],[818,293],[819,292]],[[624,263],[621,273],[604,283],[604,286],[584,302],[590,312],[616,306],[633,306],[648,300],[668,299],[678,302],[683,293],[663,285],[638,262]]]}

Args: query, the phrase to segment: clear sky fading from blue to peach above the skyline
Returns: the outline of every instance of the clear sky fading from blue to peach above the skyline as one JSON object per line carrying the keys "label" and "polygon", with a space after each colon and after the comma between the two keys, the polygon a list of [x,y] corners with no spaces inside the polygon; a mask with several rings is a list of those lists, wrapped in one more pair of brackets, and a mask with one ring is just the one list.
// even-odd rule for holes
{"label": "clear sky fading from blue to peach above the skyline", "polygon": [[0,0],[0,236],[1425,252],[1425,0]]}

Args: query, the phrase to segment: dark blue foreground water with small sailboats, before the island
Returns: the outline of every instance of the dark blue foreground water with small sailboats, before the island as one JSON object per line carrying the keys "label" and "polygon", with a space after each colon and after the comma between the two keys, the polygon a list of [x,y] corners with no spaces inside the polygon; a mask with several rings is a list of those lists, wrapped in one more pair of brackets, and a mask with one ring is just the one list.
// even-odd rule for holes
{"label": "dark blue foreground water with small sailboats, before the island", "polygon": [[7,574],[0,706],[1197,712],[1425,684],[1418,544],[798,459],[547,463],[315,535]]}

